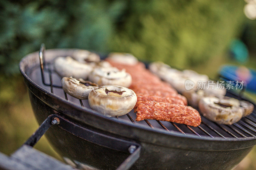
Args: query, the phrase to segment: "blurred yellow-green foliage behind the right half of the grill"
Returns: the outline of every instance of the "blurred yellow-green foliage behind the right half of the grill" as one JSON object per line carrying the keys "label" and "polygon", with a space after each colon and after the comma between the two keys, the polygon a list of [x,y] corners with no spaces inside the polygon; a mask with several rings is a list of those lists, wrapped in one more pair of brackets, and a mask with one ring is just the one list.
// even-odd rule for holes
{"label": "blurred yellow-green foliage behind the right half of the grill", "polygon": [[220,55],[241,33],[243,1],[132,1],[114,50],[185,68]]}

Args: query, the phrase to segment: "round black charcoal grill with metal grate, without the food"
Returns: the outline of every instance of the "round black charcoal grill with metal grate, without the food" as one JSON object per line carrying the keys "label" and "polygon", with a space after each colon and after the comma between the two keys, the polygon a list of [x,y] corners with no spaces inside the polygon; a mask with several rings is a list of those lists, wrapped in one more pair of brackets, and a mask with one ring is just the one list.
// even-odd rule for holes
{"label": "round black charcoal grill with metal grate, without the food", "polygon": [[[90,169],[232,169],[256,144],[255,105],[251,115],[233,125],[219,125],[202,116],[198,127],[156,120],[134,122],[133,110],[119,117],[97,113],[88,100],[65,93],[53,69],[55,57],[72,56],[74,50],[44,50],[42,46],[20,62],[38,123],[60,120],[45,135],[68,163]],[[226,95],[246,100],[242,94],[228,91]],[[31,145],[38,139],[30,141]]]}

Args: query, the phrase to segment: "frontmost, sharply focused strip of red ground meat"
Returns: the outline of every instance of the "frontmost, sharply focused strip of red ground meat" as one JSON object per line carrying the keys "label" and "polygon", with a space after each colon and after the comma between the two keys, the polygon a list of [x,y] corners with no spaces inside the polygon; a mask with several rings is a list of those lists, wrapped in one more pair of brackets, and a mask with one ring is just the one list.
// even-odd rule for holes
{"label": "frontmost, sharply focused strip of red ground meat", "polygon": [[154,119],[195,127],[201,123],[201,116],[198,111],[190,106],[156,101],[140,101],[135,111],[137,112],[136,121]]}

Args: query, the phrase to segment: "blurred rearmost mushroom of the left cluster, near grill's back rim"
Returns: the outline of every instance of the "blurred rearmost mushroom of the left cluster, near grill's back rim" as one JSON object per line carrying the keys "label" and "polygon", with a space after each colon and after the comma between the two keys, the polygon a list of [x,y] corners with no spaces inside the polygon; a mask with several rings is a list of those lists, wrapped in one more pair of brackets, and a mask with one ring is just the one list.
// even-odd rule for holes
{"label": "blurred rearmost mushroom of the left cluster, near grill's back rim", "polygon": [[87,50],[77,49],[73,52],[72,58],[80,63],[100,62],[100,56]]}

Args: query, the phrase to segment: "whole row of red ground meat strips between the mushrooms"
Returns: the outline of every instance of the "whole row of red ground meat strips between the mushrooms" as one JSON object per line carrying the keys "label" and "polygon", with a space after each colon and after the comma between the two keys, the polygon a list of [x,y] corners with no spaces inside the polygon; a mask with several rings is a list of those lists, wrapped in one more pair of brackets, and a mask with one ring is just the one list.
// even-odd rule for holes
{"label": "whole row of red ground meat strips between the mushrooms", "polygon": [[108,61],[118,69],[125,69],[132,76],[132,89],[137,95],[134,112],[136,121],[154,119],[198,126],[201,117],[198,111],[188,104],[187,99],[178,94],[171,85],[163,82],[145,68],[143,63],[126,65]]}

